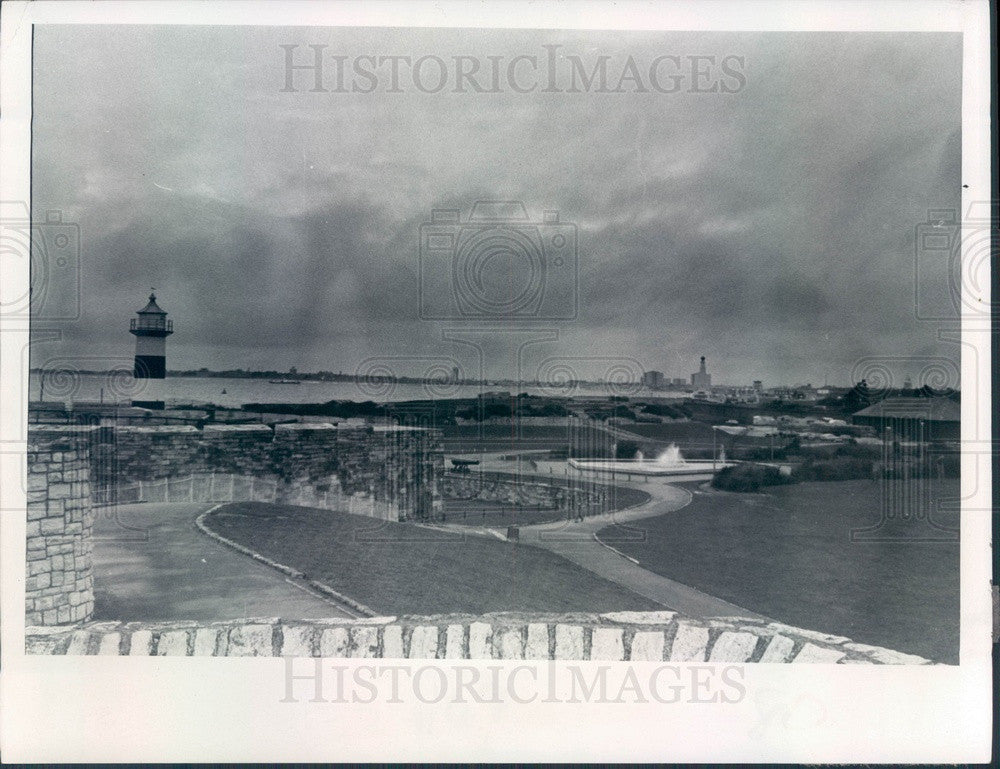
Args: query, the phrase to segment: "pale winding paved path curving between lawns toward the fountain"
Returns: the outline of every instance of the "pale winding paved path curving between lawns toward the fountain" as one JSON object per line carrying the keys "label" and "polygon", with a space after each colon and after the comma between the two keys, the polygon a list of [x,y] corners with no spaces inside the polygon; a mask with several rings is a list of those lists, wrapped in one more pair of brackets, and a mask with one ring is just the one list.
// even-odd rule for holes
{"label": "pale winding paved path curving between lawns toward the fountain", "polygon": [[[517,471],[516,463],[505,462],[500,457],[499,453],[478,455],[484,470]],[[563,475],[565,467],[563,462],[536,460],[531,472],[525,472],[523,463],[520,465],[520,472],[523,476],[559,478]],[[600,480],[608,482],[609,479]],[[614,539],[644,536],[643,528],[641,524],[637,524],[638,521],[656,515],[668,515],[680,510],[691,501],[691,492],[672,486],[661,478],[647,477],[642,480],[626,481],[618,477],[615,479],[615,484],[645,491],[652,495],[652,499],[636,507],[592,516],[582,521],[557,521],[522,526],[519,541],[551,550],[633,593],[638,593],[689,617],[736,616],[763,619],[762,615],[749,609],[654,574],[634,560],[612,550]],[[613,536],[606,535],[606,544],[602,543],[596,537],[597,532],[613,524],[620,524],[620,529]],[[459,528],[468,530],[469,527]],[[490,533],[500,534],[499,531]]]}

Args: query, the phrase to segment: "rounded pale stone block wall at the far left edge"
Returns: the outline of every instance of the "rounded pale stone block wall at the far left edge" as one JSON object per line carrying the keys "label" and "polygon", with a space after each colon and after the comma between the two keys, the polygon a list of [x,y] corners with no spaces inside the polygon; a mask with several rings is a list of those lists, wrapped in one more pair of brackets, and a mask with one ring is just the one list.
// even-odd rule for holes
{"label": "rounded pale stone block wall at the far left edge", "polygon": [[93,614],[93,432],[93,428],[39,427],[28,435],[28,625],[81,622]]}

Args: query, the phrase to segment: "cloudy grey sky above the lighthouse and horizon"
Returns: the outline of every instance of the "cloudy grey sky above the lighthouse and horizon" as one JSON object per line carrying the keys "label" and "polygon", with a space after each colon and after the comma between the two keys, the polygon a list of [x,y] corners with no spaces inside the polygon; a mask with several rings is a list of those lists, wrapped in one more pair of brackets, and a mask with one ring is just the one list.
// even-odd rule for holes
{"label": "cloudy grey sky above the lighthouse and horizon", "polygon": [[[382,67],[372,92],[350,69],[337,92],[335,59],[326,92],[310,72],[289,92],[282,45],[348,67],[501,57],[504,76],[557,45],[560,92],[429,93],[433,61],[423,90],[390,90]],[[661,93],[643,73],[668,55],[687,74]],[[697,91],[693,55],[715,57]],[[645,92],[571,92],[574,56],[609,57],[612,80],[632,57]],[[960,63],[960,36],[932,33],[36,27],[33,215],[79,226],[80,263],[78,294],[52,278],[68,311],[36,317],[58,339],[32,365],[120,365],[155,287],[171,369],[689,377],[705,355],[723,383],[847,384],[872,361],[919,379],[958,356],[917,318],[914,244],[929,209],[960,203]],[[458,257],[425,253],[421,225],[459,209],[453,242],[475,238],[478,200],[523,202],[525,253],[556,232],[544,211],[573,225],[563,271],[535,252],[536,320],[422,317]],[[530,254],[493,256],[472,285],[519,292]],[[567,298],[575,316],[553,319]]]}

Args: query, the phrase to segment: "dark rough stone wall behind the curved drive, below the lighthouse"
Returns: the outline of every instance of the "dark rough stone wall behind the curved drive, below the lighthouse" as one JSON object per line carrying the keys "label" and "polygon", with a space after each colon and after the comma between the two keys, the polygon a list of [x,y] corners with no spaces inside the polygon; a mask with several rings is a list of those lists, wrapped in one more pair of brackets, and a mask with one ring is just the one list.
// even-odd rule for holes
{"label": "dark rough stone wall behind the curved drive, below the lighthouse", "polygon": [[[325,422],[273,430],[102,427],[92,454],[100,504],[256,499],[396,519],[440,512],[443,456],[440,433],[433,430]],[[179,489],[173,496],[171,486]]]}

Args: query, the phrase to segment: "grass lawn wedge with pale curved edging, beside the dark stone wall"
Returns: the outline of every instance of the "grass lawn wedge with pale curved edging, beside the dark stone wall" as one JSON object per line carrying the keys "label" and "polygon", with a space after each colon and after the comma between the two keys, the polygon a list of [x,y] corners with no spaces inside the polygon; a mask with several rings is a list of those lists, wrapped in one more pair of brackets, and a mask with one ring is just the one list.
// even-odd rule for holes
{"label": "grass lawn wedge with pale curved edging, beside the dark stone wall", "polygon": [[554,553],[489,537],[260,502],[205,523],[384,614],[663,608]]}

